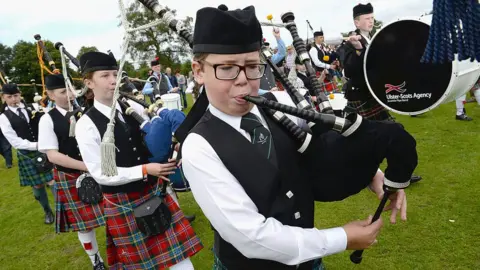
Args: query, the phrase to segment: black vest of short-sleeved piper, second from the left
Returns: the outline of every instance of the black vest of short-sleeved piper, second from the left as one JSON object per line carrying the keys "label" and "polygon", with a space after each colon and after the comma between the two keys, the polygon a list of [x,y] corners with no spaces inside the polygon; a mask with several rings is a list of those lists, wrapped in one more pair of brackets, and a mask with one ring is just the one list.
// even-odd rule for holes
{"label": "black vest of short-sleeved piper, second from the left", "polygon": [[[78,149],[77,140],[75,137],[69,136],[70,131],[70,117],[67,113],[66,116],[63,116],[60,111],[57,109],[52,109],[48,112],[50,117],[52,118],[53,123],[53,131],[55,135],[57,135],[58,140],[58,152],[67,155],[76,160],[82,160],[82,156],[80,155],[80,150]],[[76,117],[78,121],[78,118]],[[58,164],[55,165],[57,170],[66,173],[80,173],[80,171],[70,168],[65,168]]]}

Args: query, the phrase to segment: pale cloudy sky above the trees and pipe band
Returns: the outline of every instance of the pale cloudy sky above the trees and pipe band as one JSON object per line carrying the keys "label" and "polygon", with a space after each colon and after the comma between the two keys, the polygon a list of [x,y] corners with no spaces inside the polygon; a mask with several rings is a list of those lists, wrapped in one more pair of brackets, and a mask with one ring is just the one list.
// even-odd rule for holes
{"label": "pale cloudy sky above the trees and pipe band", "polygon": [[[123,0],[125,6],[134,0]],[[96,46],[100,51],[112,50],[117,59],[121,54],[124,30],[119,27],[118,0],[22,0],[9,1],[0,8],[0,43],[13,46],[18,40],[34,42],[33,36],[60,41],[74,56],[82,46]],[[186,16],[195,20],[196,11],[203,7],[225,4],[229,9],[254,5],[257,17],[266,22],[273,15],[274,22],[281,22],[281,15],[293,12],[302,38],[312,37],[307,30],[309,20],[314,31],[323,29],[325,38],[340,37],[341,32],[353,30],[352,8],[358,3],[372,3],[375,17],[388,23],[398,18],[419,17],[432,9],[433,0],[159,0],[177,10],[178,18]],[[271,3],[274,3],[273,5]],[[307,33],[308,31],[308,33]],[[272,43],[271,27],[263,27],[264,37]],[[281,30],[282,38],[291,44],[288,30]]]}

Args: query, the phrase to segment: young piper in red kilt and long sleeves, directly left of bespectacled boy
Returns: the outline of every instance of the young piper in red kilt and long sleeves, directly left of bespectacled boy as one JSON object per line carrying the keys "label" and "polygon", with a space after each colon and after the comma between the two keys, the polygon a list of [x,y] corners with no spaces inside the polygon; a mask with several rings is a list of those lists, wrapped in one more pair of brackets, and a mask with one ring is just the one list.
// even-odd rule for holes
{"label": "young piper in red kilt and long sleeves, directly left of bespectacled boy", "polygon": [[[80,64],[84,83],[93,90],[95,100],[78,121],[75,133],[83,161],[102,188],[110,269],[193,269],[189,257],[203,246],[178,204],[161,192],[161,178],[174,173],[175,162],[148,162],[138,122],[113,100],[118,69],[115,58],[89,52],[80,57]],[[112,104],[117,108],[113,134],[107,132]],[[116,166],[117,173],[106,176],[102,173],[101,141],[112,135],[115,163],[107,165]],[[172,219],[166,231],[147,236],[137,224],[134,209],[155,198],[163,199]]]}

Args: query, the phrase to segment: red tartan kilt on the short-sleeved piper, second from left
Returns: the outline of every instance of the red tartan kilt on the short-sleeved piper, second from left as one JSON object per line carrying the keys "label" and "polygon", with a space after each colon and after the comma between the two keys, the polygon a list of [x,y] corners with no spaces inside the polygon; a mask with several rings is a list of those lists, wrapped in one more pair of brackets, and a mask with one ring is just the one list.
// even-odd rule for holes
{"label": "red tartan kilt on the short-sleeved piper, second from left", "polygon": [[80,173],[65,173],[53,170],[56,189],[55,232],[87,231],[105,225],[103,201],[87,204],[80,200],[76,182]]}

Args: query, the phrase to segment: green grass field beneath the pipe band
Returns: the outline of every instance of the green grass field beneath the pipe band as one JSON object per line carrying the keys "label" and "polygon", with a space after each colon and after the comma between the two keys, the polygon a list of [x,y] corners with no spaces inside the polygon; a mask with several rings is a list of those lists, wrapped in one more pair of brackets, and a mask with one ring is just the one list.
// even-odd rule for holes
{"label": "green grass field beneath the pipe band", "polygon": [[[480,107],[467,104],[467,112],[474,121],[454,120],[454,103],[416,118],[396,115],[417,140],[416,173],[423,176],[407,190],[408,220],[391,225],[384,214],[379,243],[364,253],[362,264],[353,265],[350,252],[343,252],[325,259],[329,270],[480,269]],[[56,235],[53,225],[44,225],[31,189],[19,186],[18,167],[7,170],[1,160],[0,269],[91,269],[77,234]],[[193,263],[196,269],[211,269],[209,223],[191,193],[180,197],[184,212],[197,215],[193,226],[205,245]],[[369,191],[343,202],[318,203],[316,226],[363,219],[377,204]],[[97,229],[97,239],[105,258],[104,231]]]}

